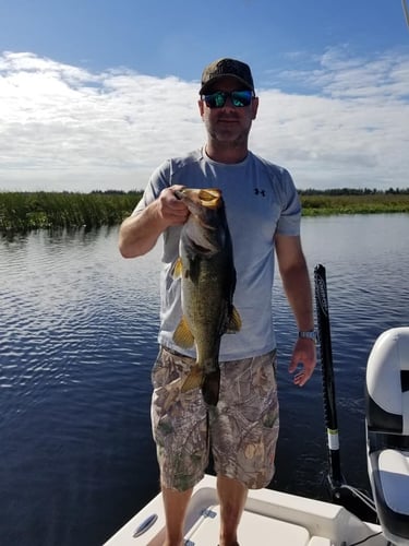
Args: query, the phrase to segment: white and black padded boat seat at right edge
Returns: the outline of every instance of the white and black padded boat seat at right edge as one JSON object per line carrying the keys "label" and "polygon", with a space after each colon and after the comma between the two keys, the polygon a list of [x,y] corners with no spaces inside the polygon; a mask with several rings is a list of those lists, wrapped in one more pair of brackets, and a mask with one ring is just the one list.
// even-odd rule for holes
{"label": "white and black padded boat seat at right edge", "polygon": [[366,367],[368,471],[386,539],[409,544],[409,327],[385,331]]}

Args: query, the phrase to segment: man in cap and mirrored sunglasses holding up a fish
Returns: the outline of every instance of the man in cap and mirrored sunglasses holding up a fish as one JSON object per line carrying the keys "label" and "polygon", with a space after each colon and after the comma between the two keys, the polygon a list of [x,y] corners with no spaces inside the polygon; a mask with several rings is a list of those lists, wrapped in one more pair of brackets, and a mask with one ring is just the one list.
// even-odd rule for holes
{"label": "man in cap and mirrored sunglasses holding up a fish", "polygon": [[[152,417],[167,521],[165,546],[183,544],[185,511],[192,488],[206,468],[208,443],[217,473],[220,546],[238,544],[248,488],[265,487],[273,478],[278,435],[272,324],[275,253],[299,329],[289,365],[294,384],[304,385],[315,367],[300,202],[290,175],[248,149],[257,107],[248,64],[220,59],[206,67],[199,100],[206,145],[163,164],[120,228],[119,248],[124,258],[148,252],[164,236],[160,351],[153,370]],[[194,354],[178,347],[172,337],[181,318],[181,296],[180,280],[173,278],[171,270],[181,226],[188,218],[175,190],[183,187],[221,189],[233,245],[233,304],[242,328],[221,337],[216,406],[205,404],[200,389],[180,392],[181,377],[194,363]]]}

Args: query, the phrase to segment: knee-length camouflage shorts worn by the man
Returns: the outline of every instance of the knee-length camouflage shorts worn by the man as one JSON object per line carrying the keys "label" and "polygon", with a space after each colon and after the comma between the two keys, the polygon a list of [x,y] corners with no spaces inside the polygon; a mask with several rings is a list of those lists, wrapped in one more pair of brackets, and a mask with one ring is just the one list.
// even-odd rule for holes
{"label": "knee-length camouflage shorts worn by the man", "polygon": [[220,363],[217,406],[207,406],[200,389],[180,392],[194,360],[161,347],[152,371],[152,427],[161,483],[185,490],[208,465],[249,488],[265,487],[274,475],[278,438],[275,352]]}

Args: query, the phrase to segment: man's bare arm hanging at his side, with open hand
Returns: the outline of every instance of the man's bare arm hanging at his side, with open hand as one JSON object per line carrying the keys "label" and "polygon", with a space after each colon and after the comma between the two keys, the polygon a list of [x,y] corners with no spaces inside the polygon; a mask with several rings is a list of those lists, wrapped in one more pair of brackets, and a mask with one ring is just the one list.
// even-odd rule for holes
{"label": "man's bare arm hanging at his side, with open hand", "polygon": [[[314,330],[314,307],[312,289],[300,237],[276,235],[278,266],[287,299],[294,314],[298,329]],[[294,376],[294,383],[302,387],[312,376],[316,364],[315,342],[299,337],[296,342],[289,372],[299,365],[302,370]]]}

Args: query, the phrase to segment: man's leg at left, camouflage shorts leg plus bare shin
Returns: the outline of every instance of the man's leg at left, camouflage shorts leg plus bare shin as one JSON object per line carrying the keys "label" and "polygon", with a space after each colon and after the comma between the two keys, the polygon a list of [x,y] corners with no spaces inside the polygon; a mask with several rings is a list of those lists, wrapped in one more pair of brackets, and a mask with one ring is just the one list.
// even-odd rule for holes
{"label": "man's leg at left, camouflage shorts leg plus bare shin", "polygon": [[164,546],[183,544],[192,488],[208,463],[207,410],[200,389],[180,392],[195,360],[161,348],[152,378],[152,428],[166,517]]}

